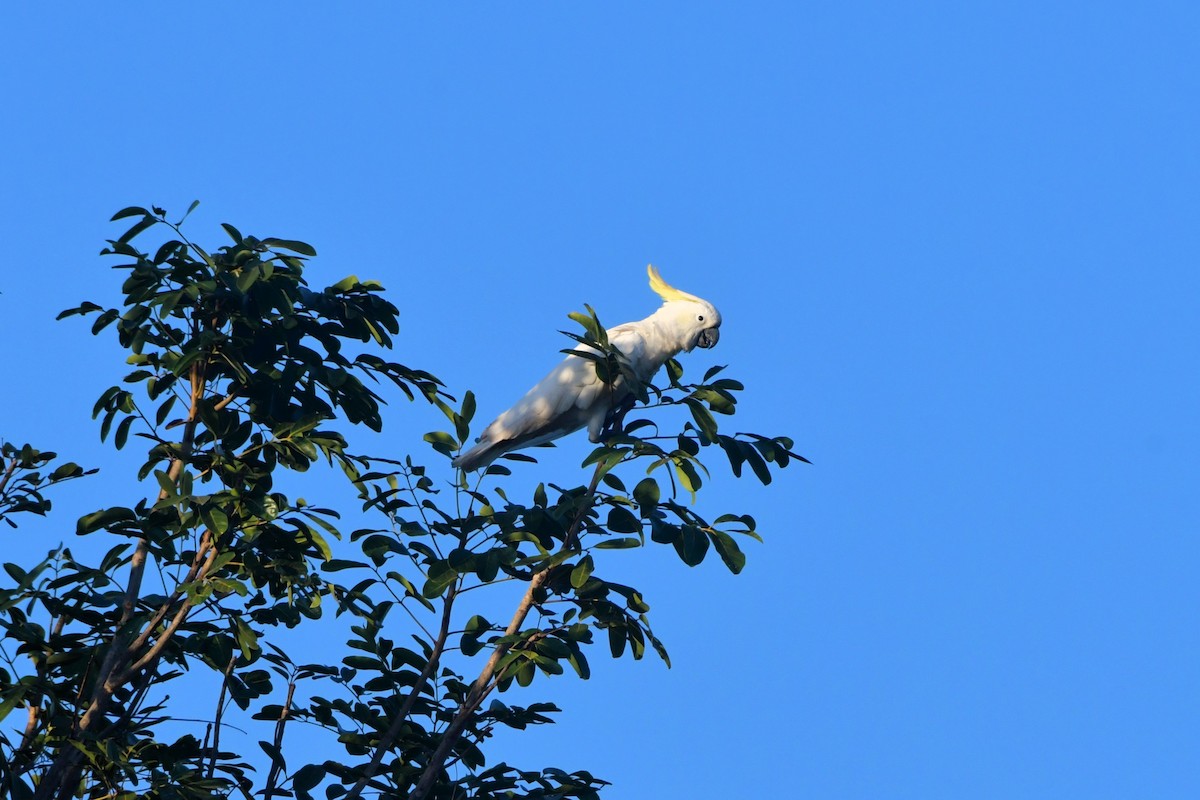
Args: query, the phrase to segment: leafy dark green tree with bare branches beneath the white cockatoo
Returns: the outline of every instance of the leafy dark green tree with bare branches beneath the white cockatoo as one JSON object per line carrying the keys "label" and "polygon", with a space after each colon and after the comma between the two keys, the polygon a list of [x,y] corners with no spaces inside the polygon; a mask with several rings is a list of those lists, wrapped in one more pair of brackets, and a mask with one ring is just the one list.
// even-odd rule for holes
{"label": "leafy dark green tree with bare branches beneath the white cockatoo", "polygon": [[[77,534],[114,542],[97,563],[60,547],[40,564],[5,565],[0,792],[595,798],[605,782],[586,771],[488,764],[484,742],[498,726],[548,723],[558,710],[499,696],[566,668],[586,679],[596,637],[613,657],[641,658],[649,645],[666,660],[642,593],[605,579],[601,554],[661,543],[688,565],[716,553],[739,572],[737,537],[757,539],[755,521],[698,513],[701,456],[720,451],[736,477],[749,467],[769,483],[800,458],[792,441],[721,433],[718,416],[736,411],[742,385],[721,368],[685,383],[672,361],[665,386],[637,387],[637,419],[584,459],[586,480],[539,485],[521,503],[503,488],[502,463],[478,476],[450,468],[470,438],[474,397],[454,404],[431,373],[380,355],[397,309],[378,283],[352,276],[314,290],[304,242],[223,225],[232,243],[209,253],[161,209],[113,218],[133,221],[103,251],[126,272],[124,308],[84,302],[61,317],[94,315],[92,332],[115,329],[128,351],[132,369],[94,415],[116,449],[146,443],[137,477],[152,491],[78,521]],[[163,234],[152,253],[134,245],[151,229]],[[601,375],[630,379],[595,314],[572,317],[582,333],[569,336],[596,348]],[[425,437],[432,467],[348,444],[346,423],[380,429],[389,384],[449,421]],[[28,445],[0,457],[10,525],[47,513],[53,485],[89,474]],[[322,464],[344,475],[376,525],[336,551],[341,515],[281,486]],[[151,567],[164,590],[143,581]],[[515,609],[475,593],[500,582],[523,584]],[[298,663],[278,646],[283,628],[330,610],[349,621],[344,649]],[[203,670],[220,681],[211,718],[202,735],[168,736],[167,688]],[[264,730],[264,769],[222,750],[233,716]],[[338,754],[296,764],[287,758],[296,735]]]}

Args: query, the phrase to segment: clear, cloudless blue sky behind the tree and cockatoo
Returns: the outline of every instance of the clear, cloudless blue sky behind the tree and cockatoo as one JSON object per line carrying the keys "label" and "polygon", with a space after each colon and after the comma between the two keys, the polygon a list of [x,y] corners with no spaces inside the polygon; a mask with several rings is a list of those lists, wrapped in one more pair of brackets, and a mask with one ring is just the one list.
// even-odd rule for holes
{"label": "clear, cloudless blue sky behind the tree and cockatoo", "polygon": [[5,560],[142,493],[88,419],[119,355],[53,321],[114,299],[121,206],[383,281],[488,419],[653,261],[725,318],[686,366],[814,465],[702,495],[760,519],[737,578],[614,563],[674,668],[598,651],[498,754],[614,798],[1200,795],[1196,4],[7,4],[0,42],[0,435],[106,467]]}

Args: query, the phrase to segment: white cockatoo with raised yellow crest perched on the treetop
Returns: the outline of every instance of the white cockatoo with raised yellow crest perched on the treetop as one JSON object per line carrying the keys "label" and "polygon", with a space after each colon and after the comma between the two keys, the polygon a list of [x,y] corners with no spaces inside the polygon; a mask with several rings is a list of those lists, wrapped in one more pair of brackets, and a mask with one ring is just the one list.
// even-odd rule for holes
{"label": "white cockatoo with raised yellow crest perched on the treetop", "polygon": [[[624,354],[642,383],[649,383],[679,351],[716,344],[721,327],[721,314],[713,303],[670,285],[653,264],[647,272],[650,288],[662,297],[662,307],[646,319],[607,330],[608,344]],[[595,351],[584,344],[574,349]],[[480,469],[506,452],[540,445],[582,427],[587,427],[588,439],[598,443],[605,422],[631,393],[624,378],[610,387],[596,375],[590,359],[568,355],[516,405],[496,417],[484,429],[479,444],[452,463],[467,471]]]}

